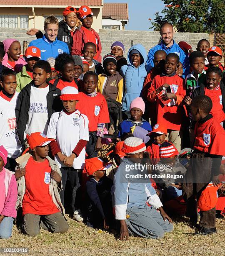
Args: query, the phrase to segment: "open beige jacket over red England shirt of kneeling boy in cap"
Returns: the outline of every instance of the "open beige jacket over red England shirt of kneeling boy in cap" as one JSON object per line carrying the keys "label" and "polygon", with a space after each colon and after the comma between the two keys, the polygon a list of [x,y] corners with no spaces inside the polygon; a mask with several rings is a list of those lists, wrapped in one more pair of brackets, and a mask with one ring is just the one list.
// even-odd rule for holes
{"label": "open beige jacket over red England shirt of kneeling boy in cap", "polygon": [[[25,155],[18,157],[16,159],[16,162],[20,168],[25,168],[30,157],[32,157],[31,154],[27,153]],[[52,168],[52,170],[56,171],[58,174],[60,174],[60,177],[62,177],[62,174],[56,162],[52,160],[49,156],[46,156],[46,159],[49,161],[49,165]],[[17,181],[17,188],[18,188],[18,196],[17,196],[17,202],[16,202],[16,209],[18,209],[19,207],[22,207],[23,197],[25,195],[26,186],[25,186],[24,176],[20,177],[20,179]],[[65,209],[60,200],[60,194],[59,194],[60,190],[62,190],[62,182],[57,184],[57,182],[51,178],[49,183],[49,194],[52,197],[52,201],[56,205],[57,209],[60,210],[62,215],[65,217]]]}

